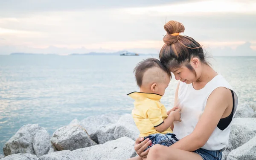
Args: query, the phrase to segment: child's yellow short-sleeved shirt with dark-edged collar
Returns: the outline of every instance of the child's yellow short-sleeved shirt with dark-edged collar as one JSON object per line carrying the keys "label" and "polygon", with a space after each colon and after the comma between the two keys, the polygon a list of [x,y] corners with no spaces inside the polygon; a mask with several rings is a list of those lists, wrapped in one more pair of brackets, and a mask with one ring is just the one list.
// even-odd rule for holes
{"label": "child's yellow short-sleeved shirt with dark-edged collar", "polygon": [[[160,133],[154,127],[163,123],[167,118],[166,108],[160,103],[161,95],[155,93],[132,92],[127,94],[135,100],[131,114],[140,131],[139,137]],[[161,134],[172,133],[171,128]]]}

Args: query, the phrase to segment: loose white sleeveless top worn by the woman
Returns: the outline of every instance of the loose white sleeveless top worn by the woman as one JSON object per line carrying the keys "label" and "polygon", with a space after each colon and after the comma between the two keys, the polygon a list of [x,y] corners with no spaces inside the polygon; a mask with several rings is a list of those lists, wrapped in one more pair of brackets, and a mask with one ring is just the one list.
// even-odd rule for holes
{"label": "loose white sleeveless top worn by the woman", "polygon": [[[182,107],[182,121],[174,122],[173,130],[173,133],[176,134],[177,139],[180,140],[192,133],[198,123],[199,118],[201,117],[201,114],[204,112],[209,95],[218,87],[225,87],[233,90],[230,84],[220,74],[209,81],[201,90],[195,90],[192,84],[180,82],[178,99]],[[218,99],[216,99],[216,101],[218,101]],[[235,91],[234,102],[235,107],[233,117],[236,113],[238,104],[238,97]],[[212,132],[212,135],[209,137],[209,140],[202,148],[209,151],[225,150],[228,145],[230,129],[231,123],[223,131],[216,126],[215,130]]]}

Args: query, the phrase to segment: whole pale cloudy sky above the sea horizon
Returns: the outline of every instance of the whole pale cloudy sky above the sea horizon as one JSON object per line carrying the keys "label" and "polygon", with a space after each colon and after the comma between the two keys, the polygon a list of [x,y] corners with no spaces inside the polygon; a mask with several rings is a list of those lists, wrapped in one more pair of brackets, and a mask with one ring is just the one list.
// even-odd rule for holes
{"label": "whole pale cloudy sky above the sea horizon", "polygon": [[256,56],[256,0],[0,0],[0,54],[159,53],[163,26],[212,55]]}

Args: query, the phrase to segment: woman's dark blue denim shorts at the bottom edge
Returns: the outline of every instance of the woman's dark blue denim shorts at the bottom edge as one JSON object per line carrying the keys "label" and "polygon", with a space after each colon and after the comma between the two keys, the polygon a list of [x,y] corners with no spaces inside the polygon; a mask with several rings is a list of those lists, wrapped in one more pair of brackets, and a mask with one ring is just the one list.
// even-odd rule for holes
{"label": "woman's dark blue denim shorts at the bottom edge", "polygon": [[221,160],[222,158],[221,151],[208,151],[206,149],[199,148],[194,152],[199,154],[203,158],[203,160]]}

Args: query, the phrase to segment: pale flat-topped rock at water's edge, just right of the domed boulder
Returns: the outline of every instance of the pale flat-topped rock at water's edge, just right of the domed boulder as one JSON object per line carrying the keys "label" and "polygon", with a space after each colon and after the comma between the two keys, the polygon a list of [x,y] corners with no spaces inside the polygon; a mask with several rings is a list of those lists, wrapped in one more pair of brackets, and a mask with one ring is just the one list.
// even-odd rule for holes
{"label": "pale flat-topped rock at water's edge, just right of the domed boulder", "polygon": [[70,125],[81,125],[85,128],[90,135],[90,138],[99,144],[97,131],[101,127],[106,127],[107,125],[114,124],[118,121],[120,115],[117,114],[104,114],[100,116],[89,116],[80,122],[77,119],[74,119],[70,122]]}

